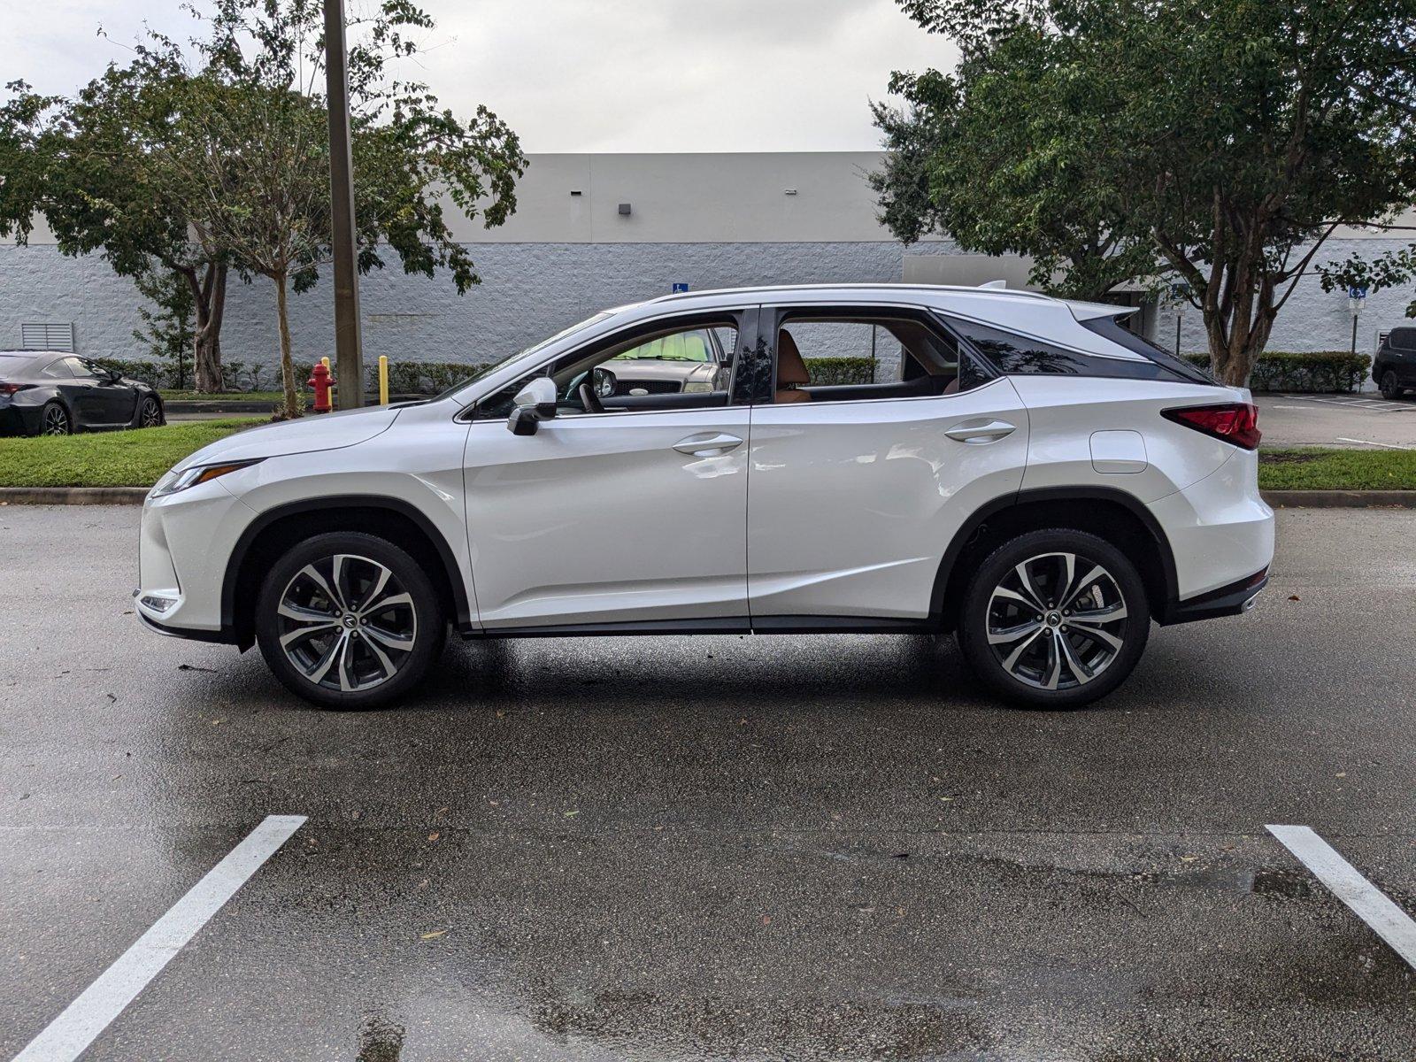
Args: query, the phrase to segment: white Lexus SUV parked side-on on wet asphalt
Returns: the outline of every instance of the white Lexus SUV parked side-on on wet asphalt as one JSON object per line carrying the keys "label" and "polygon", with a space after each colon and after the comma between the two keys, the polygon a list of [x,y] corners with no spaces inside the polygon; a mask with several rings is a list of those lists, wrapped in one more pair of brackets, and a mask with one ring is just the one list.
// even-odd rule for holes
{"label": "white Lexus SUV parked side-on on wet asphalt", "polygon": [[[952,630],[1001,698],[1078,707],[1126,678],[1151,620],[1249,609],[1273,556],[1249,392],[1127,313],[902,285],[600,313],[438,398],[191,455],[143,507],[136,610],[259,644],[331,708],[408,692],[449,624]],[[813,381],[867,333],[875,382]],[[616,358],[690,334],[719,371],[617,381]]]}

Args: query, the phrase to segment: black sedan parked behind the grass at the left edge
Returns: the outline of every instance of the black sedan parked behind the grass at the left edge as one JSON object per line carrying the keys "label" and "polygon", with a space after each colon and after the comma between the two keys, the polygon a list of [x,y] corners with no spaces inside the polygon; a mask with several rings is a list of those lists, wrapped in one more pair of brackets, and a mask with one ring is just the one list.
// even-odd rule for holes
{"label": "black sedan parked behind the grass at the left edge", "polygon": [[166,422],[154,388],[96,361],[0,350],[0,435],[69,435]]}

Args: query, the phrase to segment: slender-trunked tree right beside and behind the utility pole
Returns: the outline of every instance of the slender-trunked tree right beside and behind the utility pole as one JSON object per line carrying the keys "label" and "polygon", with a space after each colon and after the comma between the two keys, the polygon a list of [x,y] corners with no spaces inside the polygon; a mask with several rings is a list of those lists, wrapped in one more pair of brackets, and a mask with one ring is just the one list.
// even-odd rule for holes
{"label": "slender-trunked tree right beside and behind the utility pole", "polygon": [[[193,224],[246,275],[276,289],[285,412],[299,416],[289,289],[307,290],[330,259],[330,159],[324,126],[323,8],[312,0],[217,0],[210,31],[190,41],[202,57],[187,105],[160,146],[180,183],[205,201]],[[470,120],[440,109],[422,84],[391,78],[389,64],[418,45],[406,35],[432,20],[384,0],[350,48],[350,108],[360,269],[384,265],[391,246],[405,272],[446,269],[459,293],[480,278],[445,217],[450,200],[487,227],[515,210],[525,167],[520,142],[486,108]],[[166,55],[181,62],[167,42]],[[362,381],[346,381],[361,387]]]}

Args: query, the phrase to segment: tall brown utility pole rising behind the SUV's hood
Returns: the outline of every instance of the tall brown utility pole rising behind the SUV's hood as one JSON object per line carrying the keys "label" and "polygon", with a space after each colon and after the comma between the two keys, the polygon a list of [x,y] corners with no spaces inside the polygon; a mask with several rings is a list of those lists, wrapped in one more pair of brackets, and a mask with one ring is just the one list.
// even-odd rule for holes
{"label": "tall brown utility pole rising behind the SUV's hood", "polygon": [[334,225],[334,354],[340,409],[364,405],[364,348],[358,324],[358,248],[354,238],[354,159],[350,146],[348,48],[344,0],[324,0],[324,88],[330,109],[330,219]]}

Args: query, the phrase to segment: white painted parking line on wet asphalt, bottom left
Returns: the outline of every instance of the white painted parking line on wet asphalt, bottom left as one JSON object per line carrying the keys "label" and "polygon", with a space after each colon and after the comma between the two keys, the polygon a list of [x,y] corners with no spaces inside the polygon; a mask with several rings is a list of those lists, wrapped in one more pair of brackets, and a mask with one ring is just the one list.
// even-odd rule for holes
{"label": "white painted parking line on wet asphalt, bottom left", "polygon": [[137,943],[99,974],[64,1012],[14,1056],[14,1062],[72,1062],[147,987],[211,916],[286,840],[304,816],[268,816],[193,885]]}

